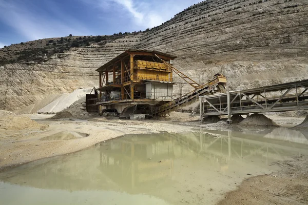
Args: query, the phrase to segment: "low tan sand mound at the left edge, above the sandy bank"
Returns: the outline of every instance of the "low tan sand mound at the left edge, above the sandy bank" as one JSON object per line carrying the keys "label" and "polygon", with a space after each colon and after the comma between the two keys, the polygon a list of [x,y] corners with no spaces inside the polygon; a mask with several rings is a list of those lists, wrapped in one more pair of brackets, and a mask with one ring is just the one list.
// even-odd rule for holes
{"label": "low tan sand mound at the left edge, above the sandy bank", "polygon": [[27,116],[16,115],[12,112],[0,110],[0,129],[5,130],[24,130],[40,129],[45,130],[48,125],[39,124]]}

